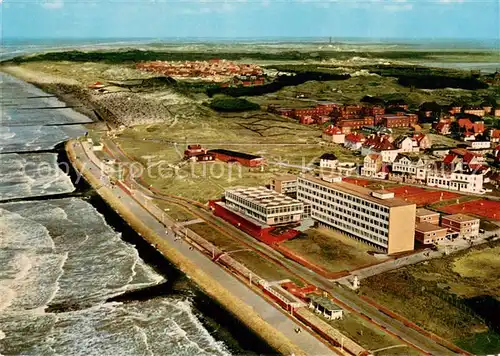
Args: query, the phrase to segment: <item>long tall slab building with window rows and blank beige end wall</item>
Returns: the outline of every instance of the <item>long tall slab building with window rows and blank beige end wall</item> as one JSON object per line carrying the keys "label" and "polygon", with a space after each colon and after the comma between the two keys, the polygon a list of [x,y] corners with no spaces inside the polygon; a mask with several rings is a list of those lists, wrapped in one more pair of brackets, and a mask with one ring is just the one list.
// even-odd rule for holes
{"label": "long tall slab building with window rows and blank beige end wall", "polygon": [[389,254],[413,250],[415,204],[395,199],[391,192],[343,182],[340,177],[324,179],[297,178],[297,199],[311,205],[313,219]]}

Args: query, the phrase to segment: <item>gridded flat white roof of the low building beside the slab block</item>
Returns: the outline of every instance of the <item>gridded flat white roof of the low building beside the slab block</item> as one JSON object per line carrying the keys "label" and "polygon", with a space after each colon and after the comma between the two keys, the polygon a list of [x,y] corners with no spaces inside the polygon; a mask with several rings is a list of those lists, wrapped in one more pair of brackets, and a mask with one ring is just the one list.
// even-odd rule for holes
{"label": "gridded flat white roof of the low building beside the slab block", "polygon": [[246,201],[265,208],[292,204],[302,205],[302,203],[297,199],[277,193],[276,191],[267,189],[266,187],[236,187],[233,189],[227,189],[226,194],[227,193],[232,193]]}

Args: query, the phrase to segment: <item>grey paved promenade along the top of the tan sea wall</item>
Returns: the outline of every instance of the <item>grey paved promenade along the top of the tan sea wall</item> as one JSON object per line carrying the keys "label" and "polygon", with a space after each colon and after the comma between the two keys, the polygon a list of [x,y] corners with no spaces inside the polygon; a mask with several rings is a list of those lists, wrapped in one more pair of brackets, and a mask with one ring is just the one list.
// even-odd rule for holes
{"label": "grey paved promenade along the top of the tan sea wall", "polygon": [[[85,144],[85,143],[84,143]],[[239,298],[247,305],[251,306],[267,323],[280,330],[286,337],[293,342],[308,355],[332,355],[333,351],[325,344],[320,342],[316,337],[308,332],[297,334],[295,328],[299,325],[284,315],[276,307],[268,303],[256,292],[248,288],[240,280],[232,274],[222,269],[211,259],[196,249],[190,248],[190,245],[183,240],[175,240],[175,234],[165,230],[165,227],[156,220],[147,210],[137,203],[132,197],[126,194],[117,186],[108,185],[107,176],[102,174],[101,167],[94,160],[92,152],[84,151],[79,143],[73,145],[77,156],[86,164],[86,168],[99,178],[103,186],[107,186],[111,191],[125,204],[132,213],[139,217],[149,228],[154,230],[159,236],[167,241],[175,250],[180,252],[184,257],[192,263],[203,269],[211,278],[218,281],[224,288],[230,291],[236,298]],[[89,153],[87,156],[86,152]],[[90,159],[89,159],[90,158]],[[97,158],[95,158],[97,159]],[[97,162],[97,161],[95,161]],[[143,197],[143,199],[146,199]]]}

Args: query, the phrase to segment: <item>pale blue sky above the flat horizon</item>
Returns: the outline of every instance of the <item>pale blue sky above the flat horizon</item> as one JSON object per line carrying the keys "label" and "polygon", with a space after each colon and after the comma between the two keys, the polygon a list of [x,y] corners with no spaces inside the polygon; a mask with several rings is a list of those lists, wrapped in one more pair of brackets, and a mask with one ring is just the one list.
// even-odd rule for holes
{"label": "pale blue sky above the flat horizon", "polygon": [[3,38],[500,38],[500,0],[0,0],[0,12]]}

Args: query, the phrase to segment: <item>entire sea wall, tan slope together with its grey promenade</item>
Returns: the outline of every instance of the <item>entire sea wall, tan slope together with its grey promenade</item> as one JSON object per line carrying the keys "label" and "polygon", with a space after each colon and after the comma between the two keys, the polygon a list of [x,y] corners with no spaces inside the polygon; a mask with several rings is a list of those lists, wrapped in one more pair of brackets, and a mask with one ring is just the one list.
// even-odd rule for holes
{"label": "entire sea wall, tan slope together with its grey promenade", "polygon": [[[173,221],[161,223],[145,205],[147,196],[134,197],[120,184],[113,184],[100,161],[85,143],[69,141],[68,157],[75,169],[97,193],[146,241],[189,276],[207,295],[217,300],[271,347],[284,355],[331,355],[334,351],[309,332],[297,334],[302,327],[278,310],[243,281],[193,248],[175,233]],[[168,219],[167,217],[163,217]]]}

